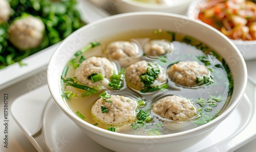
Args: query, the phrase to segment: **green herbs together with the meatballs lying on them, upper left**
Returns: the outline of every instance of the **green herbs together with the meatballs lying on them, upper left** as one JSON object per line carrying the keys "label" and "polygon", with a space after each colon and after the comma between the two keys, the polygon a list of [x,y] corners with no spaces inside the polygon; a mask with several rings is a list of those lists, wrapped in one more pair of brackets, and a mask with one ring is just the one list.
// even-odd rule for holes
{"label": "green herbs together with the meatballs lying on them, upper left", "polygon": [[0,1],[0,69],[49,47],[85,23],[75,0]]}

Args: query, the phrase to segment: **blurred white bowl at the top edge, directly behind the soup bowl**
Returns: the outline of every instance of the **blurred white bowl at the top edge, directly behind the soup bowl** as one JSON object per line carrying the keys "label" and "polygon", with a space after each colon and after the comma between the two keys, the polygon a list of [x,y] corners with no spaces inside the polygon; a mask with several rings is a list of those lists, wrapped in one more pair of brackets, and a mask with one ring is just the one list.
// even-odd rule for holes
{"label": "blurred white bowl at the top edge, directly behind the soup bowl", "polygon": [[162,0],[163,4],[149,4],[134,0],[91,0],[110,12],[127,13],[140,11],[157,11],[175,14],[185,14],[192,0]]}

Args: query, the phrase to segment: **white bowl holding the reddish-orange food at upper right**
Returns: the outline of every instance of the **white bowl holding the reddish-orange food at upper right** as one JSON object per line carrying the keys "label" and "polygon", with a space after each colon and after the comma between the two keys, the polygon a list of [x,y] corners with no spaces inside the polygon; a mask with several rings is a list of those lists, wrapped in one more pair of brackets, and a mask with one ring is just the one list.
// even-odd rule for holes
{"label": "white bowl holding the reddish-orange food at upper right", "polygon": [[[191,19],[198,19],[198,13],[200,5],[202,6],[206,0],[195,0],[192,1],[187,9],[186,16]],[[200,19],[198,19],[200,20]],[[240,50],[245,60],[256,59],[256,40],[253,41],[242,41],[242,40],[231,40]]]}

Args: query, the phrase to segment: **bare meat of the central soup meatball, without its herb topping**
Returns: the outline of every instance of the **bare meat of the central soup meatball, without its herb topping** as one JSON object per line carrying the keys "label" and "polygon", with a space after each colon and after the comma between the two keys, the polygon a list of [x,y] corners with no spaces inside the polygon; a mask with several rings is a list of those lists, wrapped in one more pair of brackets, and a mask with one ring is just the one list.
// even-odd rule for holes
{"label": "bare meat of the central soup meatball, without its herb topping", "polygon": [[167,76],[163,73],[163,68],[160,65],[142,60],[125,68],[125,80],[127,85],[136,90],[142,90],[145,87],[145,84],[140,76],[147,73],[147,68],[159,69],[159,73],[155,78],[154,83],[150,85],[151,87],[157,87],[159,84],[166,82]]}

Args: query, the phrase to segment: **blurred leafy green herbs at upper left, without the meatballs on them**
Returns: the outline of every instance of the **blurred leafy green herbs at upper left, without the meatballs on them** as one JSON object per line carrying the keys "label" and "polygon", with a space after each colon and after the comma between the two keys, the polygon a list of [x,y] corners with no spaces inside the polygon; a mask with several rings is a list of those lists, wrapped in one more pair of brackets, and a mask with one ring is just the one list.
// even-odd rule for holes
{"label": "blurred leafy green herbs at upper left, without the meatballs on them", "polygon": [[[10,0],[9,4],[13,13],[7,23],[0,24],[0,69],[63,40],[86,24],[81,20],[76,0]],[[7,30],[12,21],[27,15],[40,18],[46,30],[38,47],[20,51],[8,40]]]}

